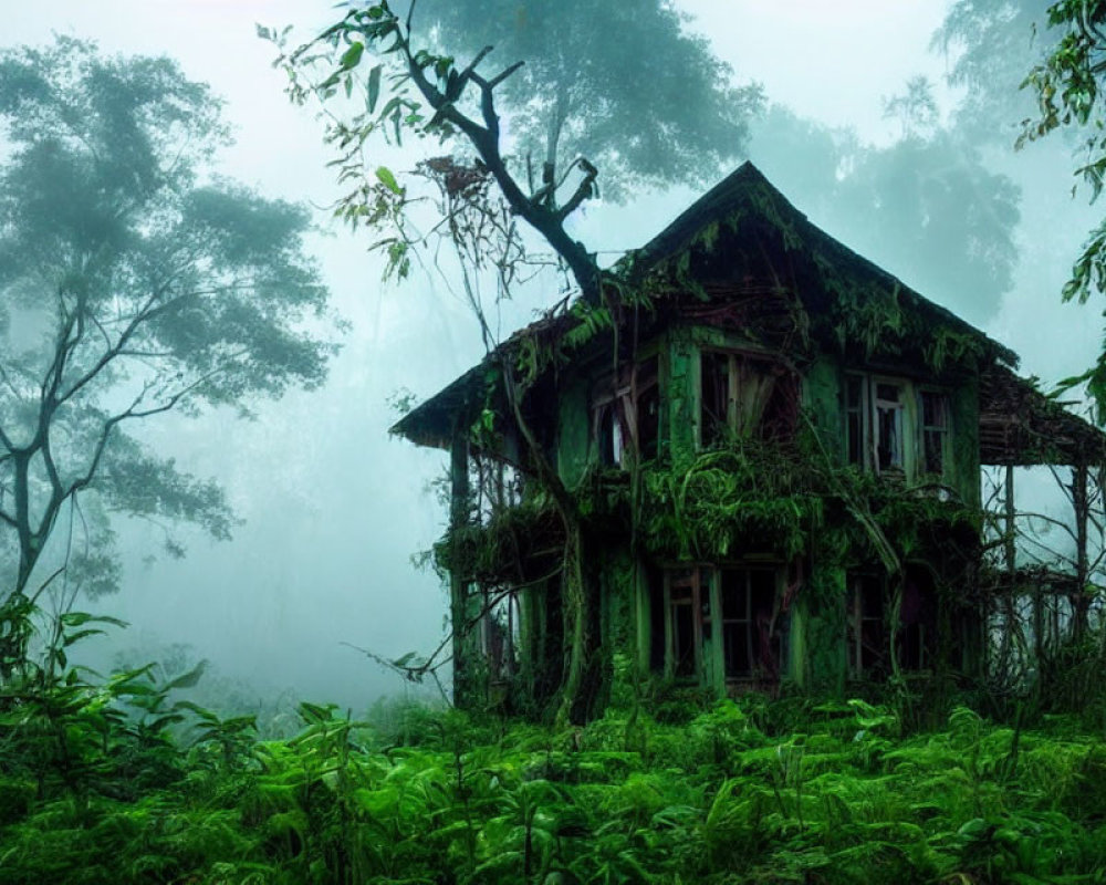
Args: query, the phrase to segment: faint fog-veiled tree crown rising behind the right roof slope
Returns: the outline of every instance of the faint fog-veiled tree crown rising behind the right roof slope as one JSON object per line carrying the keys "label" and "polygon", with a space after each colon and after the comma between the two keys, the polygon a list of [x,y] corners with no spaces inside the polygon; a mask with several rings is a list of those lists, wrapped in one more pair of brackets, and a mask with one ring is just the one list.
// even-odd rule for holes
{"label": "faint fog-veiled tree crown rising behind the right roof slope", "polygon": [[920,82],[887,101],[900,137],[865,144],[773,105],[753,158],[835,237],[972,322],[1013,283],[1020,191],[959,128],[937,121]]}

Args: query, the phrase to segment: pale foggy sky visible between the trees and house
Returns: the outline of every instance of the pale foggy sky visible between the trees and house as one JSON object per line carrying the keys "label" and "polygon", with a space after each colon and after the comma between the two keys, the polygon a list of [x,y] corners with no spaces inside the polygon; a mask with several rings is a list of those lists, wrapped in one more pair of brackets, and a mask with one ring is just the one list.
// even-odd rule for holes
{"label": "pale foggy sky visible between the trees and house", "polygon": [[[3,45],[42,44],[60,32],[94,38],[106,52],[174,56],[189,76],[209,82],[227,100],[238,144],[223,155],[222,173],[269,196],[319,207],[337,196],[324,167],[321,126],[310,111],[289,105],[284,75],[270,67],[273,51],[254,33],[255,22],[291,23],[306,38],[335,17],[331,3],[7,6]],[[698,17],[693,27],[711,37],[739,80],[758,80],[770,100],[825,123],[854,125],[872,142],[895,134],[881,116],[885,96],[911,75],[928,74],[940,84],[945,73],[945,61],[928,51],[945,9],[932,0],[680,6]],[[938,95],[953,97],[943,85]],[[389,162],[404,168],[403,159]],[[1070,167],[1048,162],[1045,168],[1032,150],[1003,160],[1025,189],[1019,243],[1030,260],[985,331],[1022,354],[1023,374],[1055,381],[1092,362],[1099,317],[1093,305],[1058,304],[1056,293],[1089,215],[1068,199]],[[775,184],[787,194],[785,176]],[[641,195],[626,207],[589,206],[576,233],[592,249],[617,253],[644,243],[696,196],[677,188]],[[126,586],[100,607],[133,622],[116,638],[119,645],[187,642],[197,656],[259,686],[359,707],[400,686],[341,643],[393,657],[428,649],[441,635],[446,611],[437,579],[408,562],[442,529],[445,514],[422,489],[441,473],[445,459],[389,439],[386,428],[396,416],[385,399],[399,387],[419,398],[435,393],[479,360],[481,350],[469,314],[434,280],[415,273],[401,288],[382,287],[380,263],[365,251],[368,241],[328,226],[325,211],[319,223],[327,232],[314,238],[313,250],[335,305],[352,324],[330,383],[321,392],[260,404],[254,424],[216,415],[152,425],[154,444],[178,455],[186,469],[218,477],[247,522],[229,543],[184,532],[189,554],[181,561],[159,554],[157,530],[129,527]],[[525,321],[538,306],[514,305],[511,317]],[[146,563],[147,554],[156,559]]]}

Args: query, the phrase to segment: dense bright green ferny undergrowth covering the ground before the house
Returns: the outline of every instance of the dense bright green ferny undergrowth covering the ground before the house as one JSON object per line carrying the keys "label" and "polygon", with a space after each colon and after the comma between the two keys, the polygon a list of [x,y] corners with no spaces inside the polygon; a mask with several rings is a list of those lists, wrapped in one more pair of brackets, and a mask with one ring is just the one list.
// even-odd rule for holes
{"label": "dense bright green ferny undergrowth covering the ground before the house", "polygon": [[304,704],[263,740],[150,674],[61,655],[0,693],[6,885],[1106,882],[1106,747],[1074,719],[958,707],[904,737],[887,707],[753,697],[554,732]]}

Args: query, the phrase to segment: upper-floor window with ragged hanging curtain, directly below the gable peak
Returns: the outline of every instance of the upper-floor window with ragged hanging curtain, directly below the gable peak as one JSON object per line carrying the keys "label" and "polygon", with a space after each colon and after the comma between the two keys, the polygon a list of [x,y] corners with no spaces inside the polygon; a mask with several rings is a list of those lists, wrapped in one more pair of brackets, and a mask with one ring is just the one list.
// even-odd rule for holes
{"label": "upper-floor window with ragged hanging curtain, directly below the gable peak", "polygon": [[699,358],[699,441],[703,448],[758,436],[783,439],[794,430],[799,387],[794,373],[770,356],[703,351]]}

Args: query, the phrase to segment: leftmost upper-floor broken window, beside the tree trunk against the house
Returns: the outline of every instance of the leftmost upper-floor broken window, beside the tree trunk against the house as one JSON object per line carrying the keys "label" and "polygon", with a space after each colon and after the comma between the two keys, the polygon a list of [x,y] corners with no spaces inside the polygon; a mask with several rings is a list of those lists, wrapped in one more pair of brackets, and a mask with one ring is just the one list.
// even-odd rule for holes
{"label": "leftmost upper-floor broken window, beside the tree trunk against the house", "polygon": [[657,357],[650,357],[626,369],[617,379],[601,383],[594,395],[593,436],[599,464],[619,467],[626,451],[637,442],[641,460],[659,454],[660,388],[657,379]]}

